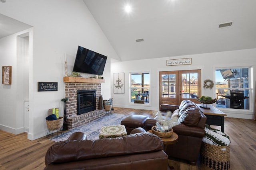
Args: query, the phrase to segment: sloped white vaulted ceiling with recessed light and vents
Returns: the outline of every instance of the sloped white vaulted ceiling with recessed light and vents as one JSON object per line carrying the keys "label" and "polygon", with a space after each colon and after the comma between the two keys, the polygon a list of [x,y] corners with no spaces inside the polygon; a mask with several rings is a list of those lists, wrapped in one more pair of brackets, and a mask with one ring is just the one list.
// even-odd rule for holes
{"label": "sloped white vaulted ceiling with recessed light and vents", "polygon": [[255,0],[84,2],[122,61],[256,48]]}

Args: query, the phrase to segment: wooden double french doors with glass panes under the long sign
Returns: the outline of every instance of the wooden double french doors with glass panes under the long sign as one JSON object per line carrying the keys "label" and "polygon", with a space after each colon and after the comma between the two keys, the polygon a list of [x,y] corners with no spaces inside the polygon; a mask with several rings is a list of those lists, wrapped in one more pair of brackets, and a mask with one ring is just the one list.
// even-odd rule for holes
{"label": "wooden double french doors with glass panes under the long sign", "polygon": [[196,96],[201,96],[201,70],[159,72],[159,106],[180,105],[185,99],[199,103]]}

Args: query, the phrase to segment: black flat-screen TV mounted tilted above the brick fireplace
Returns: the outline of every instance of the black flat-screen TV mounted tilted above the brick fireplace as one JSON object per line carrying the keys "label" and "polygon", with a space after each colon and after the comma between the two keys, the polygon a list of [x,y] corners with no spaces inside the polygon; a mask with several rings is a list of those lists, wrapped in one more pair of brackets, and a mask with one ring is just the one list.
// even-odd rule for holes
{"label": "black flat-screen TV mounted tilted above the brick fireplace", "polygon": [[107,57],[78,46],[73,72],[102,75]]}

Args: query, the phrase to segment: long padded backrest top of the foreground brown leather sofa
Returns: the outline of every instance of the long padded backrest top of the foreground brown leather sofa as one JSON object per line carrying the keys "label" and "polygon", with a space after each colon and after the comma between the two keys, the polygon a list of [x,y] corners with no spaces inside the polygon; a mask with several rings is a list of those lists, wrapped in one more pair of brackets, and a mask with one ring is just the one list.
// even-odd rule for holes
{"label": "long padded backrest top of the foreground brown leather sofa", "polygon": [[55,143],[46,152],[46,164],[163,150],[162,140],[152,133],[135,133],[118,138],[69,140]]}

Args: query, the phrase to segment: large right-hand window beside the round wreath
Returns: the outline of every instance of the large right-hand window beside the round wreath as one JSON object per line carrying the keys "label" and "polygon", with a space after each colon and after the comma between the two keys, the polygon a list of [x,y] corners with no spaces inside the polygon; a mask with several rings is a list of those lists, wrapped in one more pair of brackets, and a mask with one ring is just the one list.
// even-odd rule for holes
{"label": "large right-hand window beside the round wreath", "polygon": [[215,70],[216,107],[249,109],[249,68]]}

